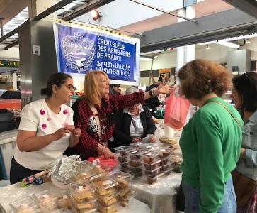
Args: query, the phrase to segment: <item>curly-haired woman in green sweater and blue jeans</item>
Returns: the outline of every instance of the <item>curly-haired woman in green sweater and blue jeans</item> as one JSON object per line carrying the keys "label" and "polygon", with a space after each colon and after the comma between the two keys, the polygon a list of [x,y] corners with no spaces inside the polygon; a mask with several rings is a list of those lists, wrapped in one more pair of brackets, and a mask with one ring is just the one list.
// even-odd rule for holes
{"label": "curly-haired woman in green sweater and blue jeans", "polygon": [[178,72],[179,93],[200,107],[183,127],[180,146],[185,212],[236,212],[231,172],[241,150],[240,114],[219,98],[231,75],[209,60],[188,62]]}

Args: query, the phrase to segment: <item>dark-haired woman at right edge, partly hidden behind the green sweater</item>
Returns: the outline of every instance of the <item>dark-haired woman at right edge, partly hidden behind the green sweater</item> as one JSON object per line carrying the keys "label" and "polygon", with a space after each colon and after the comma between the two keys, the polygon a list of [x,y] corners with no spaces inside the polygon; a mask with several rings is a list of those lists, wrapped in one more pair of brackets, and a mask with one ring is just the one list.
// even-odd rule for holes
{"label": "dark-haired woman at right edge, partly hidden behind the green sweater", "polygon": [[[246,72],[232,79],[232,94],[236,109],[244,121],[243,138],[239,161],[232,175],[240,173],[244,178],[257,180],[257,73]],[[234,177],[235,177],[234,176]],[[239,187],[241,184],[239,185]],[[244,188],[244,187],[243,187]],[[237,190],[237,186],[235,185]],[[238,191],[236,191],[238,192]],[[246,191],[249,195],[246,203],[238,203],[237,212],[257,212],[257,188]],[[237,196],[239,193],[236,193]],[[237,197],[239,198],[239,197]]]}

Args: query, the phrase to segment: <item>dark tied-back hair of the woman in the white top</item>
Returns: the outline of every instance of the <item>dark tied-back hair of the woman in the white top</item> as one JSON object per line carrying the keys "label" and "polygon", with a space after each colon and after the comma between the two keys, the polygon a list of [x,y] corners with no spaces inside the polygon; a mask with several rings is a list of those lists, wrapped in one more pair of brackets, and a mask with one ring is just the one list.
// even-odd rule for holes
{"label": "dark tied-back hair of the woman in the white top", "polygon": [[47,80],[47,87],[41,88],[41,95],[46,95],[47,97],[51,97],[52,85],[55,84],[57,87],[60,87],[61,84],[64,84],[66,82],[67,78],[72,79],[72,76],[63,72],[57,72],[55,74],[50,75],[49,79]]}

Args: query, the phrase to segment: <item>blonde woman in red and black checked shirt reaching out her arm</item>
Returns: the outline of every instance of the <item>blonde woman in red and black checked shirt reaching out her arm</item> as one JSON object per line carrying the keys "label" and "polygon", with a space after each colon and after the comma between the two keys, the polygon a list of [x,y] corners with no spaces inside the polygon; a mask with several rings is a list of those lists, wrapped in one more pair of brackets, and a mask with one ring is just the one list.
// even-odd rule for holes
{"label": "blonde woman in red and black checked shirt reaching out her arm", "polygon": [[79,154],[82,159],[104,155],[114,158],[114,153],[105,147],[113,136],[115,126],[114,112],[133,104],[141,103],[144,99],[162,93],[172,92],[171,87],[162,84],[149,92],[135,92],[133,94],[109,94],[109,78],[101,70],[91,70],[85,75],[84,93],[74,102],[75,126],[81,129],[81,137],[75,150],[67,150],[64,154]]}

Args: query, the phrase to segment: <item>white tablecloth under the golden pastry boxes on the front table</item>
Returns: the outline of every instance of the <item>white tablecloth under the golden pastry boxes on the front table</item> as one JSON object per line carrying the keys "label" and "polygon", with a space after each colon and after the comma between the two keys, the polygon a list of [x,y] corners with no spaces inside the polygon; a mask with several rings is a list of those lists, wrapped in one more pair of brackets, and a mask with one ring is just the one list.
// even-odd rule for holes
{"label": "white tablecloth under the golden pastry boxes on the front table", "polygon": [[[55,188],[55,191],[57,193],[64,192],[64,190],[61,190],[55,187],[54,185],[52,185],[52,182],[45,182],[42,185],[30,185],[29,187],[21,187],[18,183],[13,185],[8,185],[6,187],[0,187],[0,210],[1,210],[0,212],[11,213],[12,212],[11,207],[9,206],[10,202],[13,202],[14,200],[18,200],[26,196],[33,195],[35,192],[40,192],[43,190],[48,190],[53,188]],[[144,204],[143,202],[140,202],[135,198],[130,198],[130,204],[127,205],[127,207],[122,207],[118,212],[119,213],[135,213],[135,212],[150,213],[151,209],[147,206],[147,204]]]}

